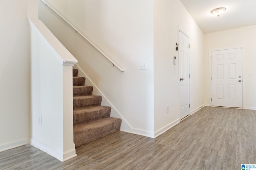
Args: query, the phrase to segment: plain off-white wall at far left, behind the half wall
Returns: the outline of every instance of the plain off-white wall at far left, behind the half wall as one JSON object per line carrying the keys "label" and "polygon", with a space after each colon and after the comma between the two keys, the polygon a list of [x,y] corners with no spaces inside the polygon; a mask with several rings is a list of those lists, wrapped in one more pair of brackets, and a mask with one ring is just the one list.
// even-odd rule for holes
{"label": "plain off-white wall at far left, behind the half wall", "polygon": [[27,0],[0,1],[0,151],[29,143]]}

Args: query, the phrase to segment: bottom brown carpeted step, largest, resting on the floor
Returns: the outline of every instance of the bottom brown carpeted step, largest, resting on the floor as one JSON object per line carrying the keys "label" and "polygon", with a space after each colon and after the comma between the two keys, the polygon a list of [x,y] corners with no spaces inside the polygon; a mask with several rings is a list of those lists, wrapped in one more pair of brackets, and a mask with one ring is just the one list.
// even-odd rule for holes
{"label": "bottom brown carpeted step, largest, resting on the floor", "polygon": [[76,147],[94,141],[111,133],[120,130],[122,120],[119,118],[108,117],[74,125],[74,143]]}

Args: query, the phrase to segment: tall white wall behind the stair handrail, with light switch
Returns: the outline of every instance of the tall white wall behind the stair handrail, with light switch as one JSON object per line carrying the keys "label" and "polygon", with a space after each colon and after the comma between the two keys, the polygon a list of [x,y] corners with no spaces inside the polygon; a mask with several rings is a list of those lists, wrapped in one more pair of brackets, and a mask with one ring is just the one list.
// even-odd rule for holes
{"label": "tall white wall behind the stair handrail, with light switch", "polygon": [[[76,57],[78,66],[130,124],[130,129],[122,130],[154,137],[153,1],[46,2],[125,69],[120,72],[113,67],[74,29],[42,2],[39,4],[40,20]],[[140,61],[147,61],[147,70],[140,70]]]}

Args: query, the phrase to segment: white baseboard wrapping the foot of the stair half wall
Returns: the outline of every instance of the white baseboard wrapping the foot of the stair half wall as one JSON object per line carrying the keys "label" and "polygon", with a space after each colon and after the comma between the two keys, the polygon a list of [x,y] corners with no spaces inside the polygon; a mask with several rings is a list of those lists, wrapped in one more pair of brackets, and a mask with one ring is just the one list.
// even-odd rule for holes
{"label": "white baseboard wrapping the foot of the stair half wall", "polygon": [[31,139],[30,141],[30,145],[46,152],[47,154],[50,154],[51,156],[53,156],[54,158],[64,162],[65,160],[68,160],[70,158],[73,158],[76,155],[76,149],[71,149],[71,150],[68,150],[66,152],[62,152],[60,150],[57,150],[45,143],[42,143],[36,139]]}

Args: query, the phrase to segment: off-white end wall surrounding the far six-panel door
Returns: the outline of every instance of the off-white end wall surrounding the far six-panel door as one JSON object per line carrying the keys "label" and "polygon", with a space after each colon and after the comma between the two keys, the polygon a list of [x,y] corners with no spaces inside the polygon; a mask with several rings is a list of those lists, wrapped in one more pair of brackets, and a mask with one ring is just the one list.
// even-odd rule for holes
{"label": "off-white end wall surrounding the far six-panel door", "polygon": [[[246,109],[256,109],[256,25],[204,35],[204,102],[209,104],[209,50],[232,47],[244,47],[244,106]],[[248,73],[253,73],[254,77],[248,77]]]}

